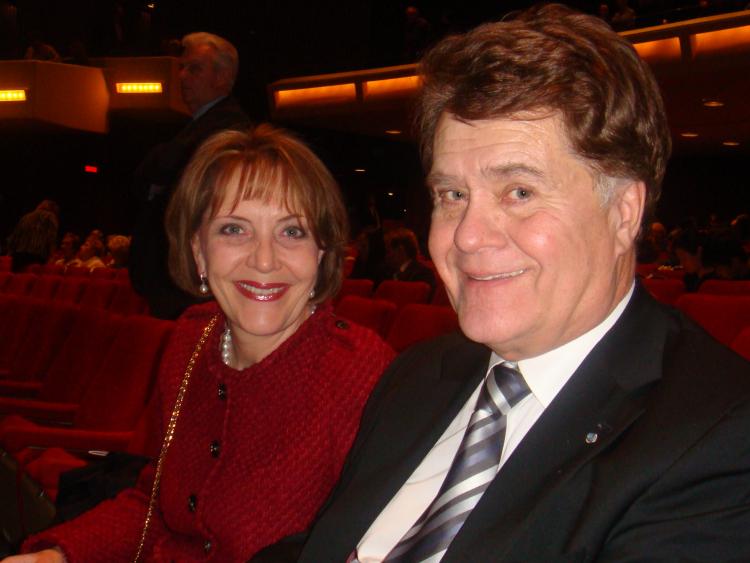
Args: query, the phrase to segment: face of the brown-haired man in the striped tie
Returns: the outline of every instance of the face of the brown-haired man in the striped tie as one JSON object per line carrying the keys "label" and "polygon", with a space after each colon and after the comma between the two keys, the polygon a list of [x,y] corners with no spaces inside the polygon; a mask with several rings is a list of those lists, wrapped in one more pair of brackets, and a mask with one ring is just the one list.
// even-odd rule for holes
{"label": "face of the brown-haired man in the striped tie", "polygon": [[630,288],[645,188],[604,206],[557,115],[438,123],[430,253],[462,330],[508,360],[596,326]]}

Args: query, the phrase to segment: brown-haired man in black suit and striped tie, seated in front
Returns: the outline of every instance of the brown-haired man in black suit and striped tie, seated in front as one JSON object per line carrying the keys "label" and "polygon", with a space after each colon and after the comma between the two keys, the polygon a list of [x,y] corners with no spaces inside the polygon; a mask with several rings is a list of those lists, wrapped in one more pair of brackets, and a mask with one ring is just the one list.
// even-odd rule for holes
{"label": "brown-haired man in black suit and striped tie, seated in front", "polygon": [[670,150],[648,69],[549,5],[422,72],[430,251],[465,337],[383,376],[300,560],[750,560],[750,367],[633,281]]}

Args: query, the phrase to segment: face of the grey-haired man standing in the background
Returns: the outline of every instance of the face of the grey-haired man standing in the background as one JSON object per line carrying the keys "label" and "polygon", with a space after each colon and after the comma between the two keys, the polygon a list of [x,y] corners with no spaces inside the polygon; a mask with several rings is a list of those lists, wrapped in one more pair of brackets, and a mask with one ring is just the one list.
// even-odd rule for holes
{"label": "face of the grey-haired man standing in the background", "polygon": [[210,45],[197,45],[180,58],[180,93],[191,113],[229,93],[228,72],[216,68],[215,55]]}

